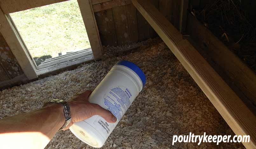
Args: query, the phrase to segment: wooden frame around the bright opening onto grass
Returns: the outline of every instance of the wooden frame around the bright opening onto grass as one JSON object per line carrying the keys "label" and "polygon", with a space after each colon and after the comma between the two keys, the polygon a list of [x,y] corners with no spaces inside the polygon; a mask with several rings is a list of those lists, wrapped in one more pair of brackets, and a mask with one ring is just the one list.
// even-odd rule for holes
{"label": "wooden frame around the bright opening onto grass", "polygon": [[[99,31],[92,10],[91,1],[78,0],[80,12],[83,17],[87,35],[91,44],[91,49],[79,53],[73,52],[72,54],[55,58],[52,61],[42,64],[42,66],[37,66],[34,60],[32,59],[30,53],[28,52],[22,38],[17,32],[17,29],[13,24],[9,14],[6,13],[21,11],[52,3],[63,2],[66,0],[45,0],[39,1],[39,3],[31,0],[27,1],[28,3],[24,3],[21,0],[0,0],[0,6],[2,9],[4,8],[3,10],[5,10],[5,12],[3,12],[2,10],[0,12],[0,23],[2,25],[0,26],[0,31],[3,34],[3,37],[5,38],[6,42],[10,46],[10,49],[12,50],[12,53],[15,55],[18,63],[21,65],[24,74],[28,77],[29,80],[37,78],[38,75],[44,75],[46,73],[48,74],[50,72],[55,72],[57,69],[63,69],[65,67],[70,67],[72,65],[77,65],[83,62],[91,62],[93,59],[95,61],[101,59],[102,47],[100,42]],[[19,3],[22,3],[23,7],[16,7],[17,4]],[[11,7],[9,9],[8,6],[10,4],[13,4],[14,7]],[[90,52],[91,50],[92,52]],[[67,56],[69,56],[68,59],[66,59]]]}

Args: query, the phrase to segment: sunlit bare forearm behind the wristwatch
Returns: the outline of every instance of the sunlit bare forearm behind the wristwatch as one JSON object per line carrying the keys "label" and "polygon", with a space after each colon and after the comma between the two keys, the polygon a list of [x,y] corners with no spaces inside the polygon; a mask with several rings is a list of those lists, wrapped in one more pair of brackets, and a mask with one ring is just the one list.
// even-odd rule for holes
{"label": "sunlit bare forearm behind the wristwatch", "polygon": [[64,122],[63,107],[59,104],[2,119],[0,120],[2,142],[0,146],[44,148]]}

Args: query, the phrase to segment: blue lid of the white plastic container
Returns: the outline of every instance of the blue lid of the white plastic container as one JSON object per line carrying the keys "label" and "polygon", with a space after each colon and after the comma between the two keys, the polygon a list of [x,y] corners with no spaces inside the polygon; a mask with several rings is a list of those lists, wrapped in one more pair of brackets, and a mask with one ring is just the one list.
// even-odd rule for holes
{"label": "blue lid of the white plastic container", "polygon": [[134,63],[129,62],[129,61],[119,61],[115,65],[123,65],[123,66],[126,66],[126,67],[132,69],[140,77],[143,87],[145,86],[146,76],[144,75],[141,68],[139,68],[137,65],[135,65]]}

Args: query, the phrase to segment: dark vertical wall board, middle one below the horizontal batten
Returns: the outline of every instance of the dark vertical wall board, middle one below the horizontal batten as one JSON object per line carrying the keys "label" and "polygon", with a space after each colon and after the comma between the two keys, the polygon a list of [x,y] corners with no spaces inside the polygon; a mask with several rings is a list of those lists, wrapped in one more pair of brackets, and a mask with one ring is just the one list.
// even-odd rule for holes
{"label": "dark vertical wall board, middle one below the horizontal batten", "polygon": [[113,8],[118,45],[138,42],[137,14],[133,4]]}

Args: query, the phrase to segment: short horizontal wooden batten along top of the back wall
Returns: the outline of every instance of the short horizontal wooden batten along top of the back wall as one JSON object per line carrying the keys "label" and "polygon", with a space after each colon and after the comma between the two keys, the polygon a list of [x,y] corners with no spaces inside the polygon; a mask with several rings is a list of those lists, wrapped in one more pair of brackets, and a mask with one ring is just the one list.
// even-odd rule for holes
{"label": "short horizontal wooden batten along top of the back wall", "polygon": [[131,0],[112,0],[109,2],[93,5],[93,11],[98,12],[98,11],[102,11],[102,10],[107,10],[107,9],[111,9],[111,8],[115,8],[115,7],[128,5],[130,3],[132,3]]}

